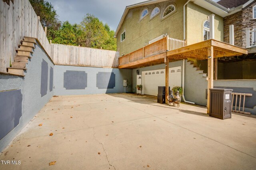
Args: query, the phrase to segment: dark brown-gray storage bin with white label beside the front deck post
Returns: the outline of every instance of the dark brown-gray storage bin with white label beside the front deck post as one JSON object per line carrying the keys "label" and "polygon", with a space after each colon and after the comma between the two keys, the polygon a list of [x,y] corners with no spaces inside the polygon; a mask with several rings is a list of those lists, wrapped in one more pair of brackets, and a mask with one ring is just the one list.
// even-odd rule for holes
{"label": "dark brown-gray storage bin with white label beside the front deck post", "polygon": [[210,88],[210,116],[219,119],[231,118],[231,93],[233,89]]}

